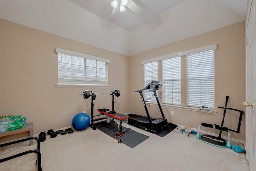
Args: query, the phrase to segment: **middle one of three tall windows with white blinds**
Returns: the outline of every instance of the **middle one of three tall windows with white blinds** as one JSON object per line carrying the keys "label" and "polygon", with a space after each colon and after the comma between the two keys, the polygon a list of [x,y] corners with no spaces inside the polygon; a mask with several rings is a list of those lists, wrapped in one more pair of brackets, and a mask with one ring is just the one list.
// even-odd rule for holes
{"label": "middle one of three tall windows with white blinds", "polygon": [[163,103],[180,105],[180,57],[163,60]]}

